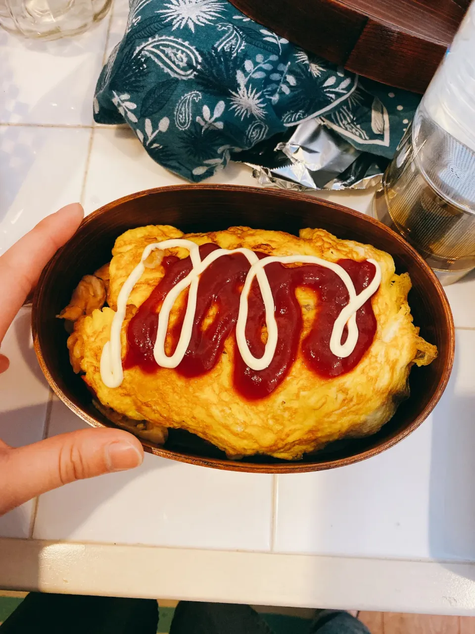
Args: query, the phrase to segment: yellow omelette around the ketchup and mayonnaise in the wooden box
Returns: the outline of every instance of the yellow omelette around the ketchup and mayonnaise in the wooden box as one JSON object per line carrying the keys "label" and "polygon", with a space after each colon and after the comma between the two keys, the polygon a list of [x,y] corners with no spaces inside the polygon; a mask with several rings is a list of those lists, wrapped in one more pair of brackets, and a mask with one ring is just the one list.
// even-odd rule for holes
{"label": "yellow omelette around the ketchup and mayonnaise in the wooden box", "polygon": [[[381,284],[372,296],[376,335],[358,365],[350,372],[324,378],[305,364],[300,348],[283,382],[269,396],[243,398],[232,386],[236,340],[228,337],[219,361],[209,372],[194,378],[174,369],[146,373],[139,366],[124,370],[119,387],[106,387],[100,359],[110,338],[122,285],[140,262],[144,248],[170,238],[186,238],[224,249],[246,247],[272,256],[317,256],[329,262],[374,259],[381,269]],[[180,259],[189,255],[181,247],[165,251]],[[376,433],[390,420],[408,395],[412,365],[428,365],[437,349],[419,337],[407,302],[408,273],[395,275],[392,257],[371,245],[338,238],[320,229],[304,229],[300,237],[281,231],[232,227],[226,231],[184,235],[172,226],[145,226],[119,236],[110,264],[85,276],[60,317],[72,322],[68,349],[73,370],[96,395],[96,407],[115,424],[137,436],[163,443],[168,428],[186,429],[225,451],[229,458],[267,454],[294,460],[327,443]],[[122,325],[122,356],[127,350],[127,326],[137,309],[162,280],[162,259],[152,252],[146,268],[127,301]],[[300,341],[307,335],[319,310],[319,297],[308,288],[297,288],[302,310]],[[170,313],[178,318],[186,294]]]}

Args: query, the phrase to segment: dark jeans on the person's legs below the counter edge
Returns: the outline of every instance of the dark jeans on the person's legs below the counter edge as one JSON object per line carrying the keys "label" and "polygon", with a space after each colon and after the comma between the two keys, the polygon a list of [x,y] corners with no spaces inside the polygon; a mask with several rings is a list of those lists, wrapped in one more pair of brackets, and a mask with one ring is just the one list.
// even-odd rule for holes
{"label": "dark jeans on the person's legs below the counter edge", "polygon": [[[156,634],[158,605],[151,599],[31,592],[0,626],[0,634]],[[273,634],[249,605],[182,601],[170,634]],[[369,634],[347,612],[325,610],[308,634]]]}

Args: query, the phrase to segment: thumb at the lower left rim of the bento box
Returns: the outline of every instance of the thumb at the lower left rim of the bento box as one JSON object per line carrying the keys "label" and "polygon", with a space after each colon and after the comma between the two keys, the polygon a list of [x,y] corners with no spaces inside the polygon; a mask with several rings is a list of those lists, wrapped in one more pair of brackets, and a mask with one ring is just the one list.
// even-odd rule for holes
{"label": "thumb at the lower left rim of the bento box", "polygon": [[13,449],[0,444],[0,515],[58,486],[138,467],[144,451],[120,429],[80,429]]}

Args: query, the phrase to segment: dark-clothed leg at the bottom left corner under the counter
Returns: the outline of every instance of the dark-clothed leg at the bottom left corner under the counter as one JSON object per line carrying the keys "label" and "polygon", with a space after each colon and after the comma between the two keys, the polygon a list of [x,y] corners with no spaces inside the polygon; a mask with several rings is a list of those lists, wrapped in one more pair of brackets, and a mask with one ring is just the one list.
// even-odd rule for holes
{"label": "dark-clothed leg at the bottom left corner under the counter", "polygon": [[152,599],[30,592],[0,626],[0,634],[156,634]]}

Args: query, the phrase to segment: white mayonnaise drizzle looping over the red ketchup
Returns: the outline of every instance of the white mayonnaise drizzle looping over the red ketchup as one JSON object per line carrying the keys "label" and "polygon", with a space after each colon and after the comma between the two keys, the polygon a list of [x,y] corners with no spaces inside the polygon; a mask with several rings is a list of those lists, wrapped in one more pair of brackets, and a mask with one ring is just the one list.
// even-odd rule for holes
{"label": "white mayonnaise drizzle looping over the red ketchup", "polygon": [[[101,378],[107,387],[118,387],[124,380],[124,372],[122,370],[122,351],[121,351],[121,332],[122,324],[125,319],[125,311],[130,293],[132,292],[137,281],[140,280],[145,270],[144,262],[153,250],[174,249],[182,247],[189,251],[191,264],[193,268],[183,280],[179,281],[167,294],[163,300],[160,313],[158,314],[158,329],[156,334],[155,346],[153,348],[153,356],[156,363],[162,368],[176,368],[181,363],[188,349],[191,334],[193,332],[194,314],[196,312],[196,298],[198,295],[198,284],[200,275],[215,260],[222,256],[231,256],[234,253],[241,253],[245,256],[251,268],[246,276],[244,288],[239,299],[238,321],[236,323],[236,342],[238,344],[239,353],[244,363],[252,370],[264,370],[269,367],[277,347],[277,322],[275,317],[275,304],[270,290],[269,280],[265,273],[264,267],[271,262],[281,262],[282,264],[319,264],[327,269],[331,269],[339,276],[345,284],[350,299],[348,304],[341,310],[336,319],[330,338],[331,352],[338,357],[345,358],[352,354],[358,341],[358,327],[356,323],[356,314],[358,309],[373,295],[379,284],[381,283],[381,268],[379,264],[369,259],[368,262],[374,264],[376,273],[371,283],[359,295],[355,290],[352,279],[346,273],[343,267],[334,262],[327,262],[316,256],[269,256],[258,259],[257,255],[250,249],[216,249],[201,261],[200,247],[191,240],[164,240],[163,242],[154,242],[149,244],[143,251],[141,261],[136,268],[130,273],[124,285],[120,289],[117,298],[117,313],[115,313],[110,332],[110,340],[106,342],[101,354]],[[262,300],[265,307],[265,324],[267,327],[267,343],[265,344],[264,354],[261,358],[257,358],[251,354],[248,343],[246,341],[246,322],[248,319],[248,296],[251,284],[257,278],[260,288]],[[175,301],[183,290],[189,287],[186,312],[181,328],[180,337],[177,347],[172,356],[165,354],[165,339],[167,338],[168,321],[170,320],[170,311]],[[348,337],[344,344],[341,344],[341,337],[345,325],[348,326]]]}

